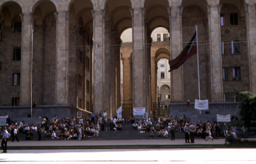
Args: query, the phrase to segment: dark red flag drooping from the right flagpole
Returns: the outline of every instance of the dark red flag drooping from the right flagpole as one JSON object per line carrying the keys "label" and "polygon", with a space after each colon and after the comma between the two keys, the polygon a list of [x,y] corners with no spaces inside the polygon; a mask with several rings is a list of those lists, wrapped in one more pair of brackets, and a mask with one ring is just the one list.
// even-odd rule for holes
{"label": "dark red flag drooping from the right flagpole", "polygon": [[169,61],[170,71],[178,69],[181,65],[185,63],[185,61],[196,54],[197,46],[196,46],[196,32],[194,33],[192,39],[187,44],[187,46],[183,49],[183,51],[173,60]]}

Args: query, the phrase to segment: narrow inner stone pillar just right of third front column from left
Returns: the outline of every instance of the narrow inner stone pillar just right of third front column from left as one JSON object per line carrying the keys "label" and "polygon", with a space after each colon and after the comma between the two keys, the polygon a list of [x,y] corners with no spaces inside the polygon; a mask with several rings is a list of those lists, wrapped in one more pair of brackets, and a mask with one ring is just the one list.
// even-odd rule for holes
{"label": "narrow inner stone pillar just right of third front column from left", "polygon": [[110,80],[113,65],[111,65],[111,22],[105,22],[105,59],[104,59],[104,86],[103,86],[103,110],[111,117],[110,112]]}

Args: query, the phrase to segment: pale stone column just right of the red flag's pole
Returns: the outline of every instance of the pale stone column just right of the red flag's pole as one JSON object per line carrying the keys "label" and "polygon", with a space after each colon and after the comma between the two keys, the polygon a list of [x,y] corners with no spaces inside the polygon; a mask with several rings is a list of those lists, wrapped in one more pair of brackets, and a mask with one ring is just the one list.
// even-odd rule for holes
{"label": "pale stone column just right of the red flag's pole", "polygon": [[208,6],[209,26],[209,63],[210,63],[210,88],[212,102],[223,101],[223,78],[222,78],[222,54],[221,54],[221,29],[220,29],[220,6],[211,4]]}

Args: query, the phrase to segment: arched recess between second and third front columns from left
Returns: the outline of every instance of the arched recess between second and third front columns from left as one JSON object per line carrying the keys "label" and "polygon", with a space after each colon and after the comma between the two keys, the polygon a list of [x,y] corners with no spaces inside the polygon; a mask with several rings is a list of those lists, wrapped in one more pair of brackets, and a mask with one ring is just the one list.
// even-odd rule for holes
{"label": "arched recess between second and third front columns from left", "polygon": [[69,102],[93,111],[93,4],[74,0],[69,5]]}

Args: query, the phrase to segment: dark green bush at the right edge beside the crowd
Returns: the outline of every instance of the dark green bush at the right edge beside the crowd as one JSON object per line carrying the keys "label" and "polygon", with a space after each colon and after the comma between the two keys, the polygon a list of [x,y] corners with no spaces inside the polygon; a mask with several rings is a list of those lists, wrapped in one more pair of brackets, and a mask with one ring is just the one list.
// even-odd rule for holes
{"label": "dark green bush at the right edge beside the crowd", "polygon": [[239,115],[244,121],[245,126],[252,126],[252,124],[256,121],[256,95],[249,91],[236,91],[236,96],[241,101],[239,105]]}

